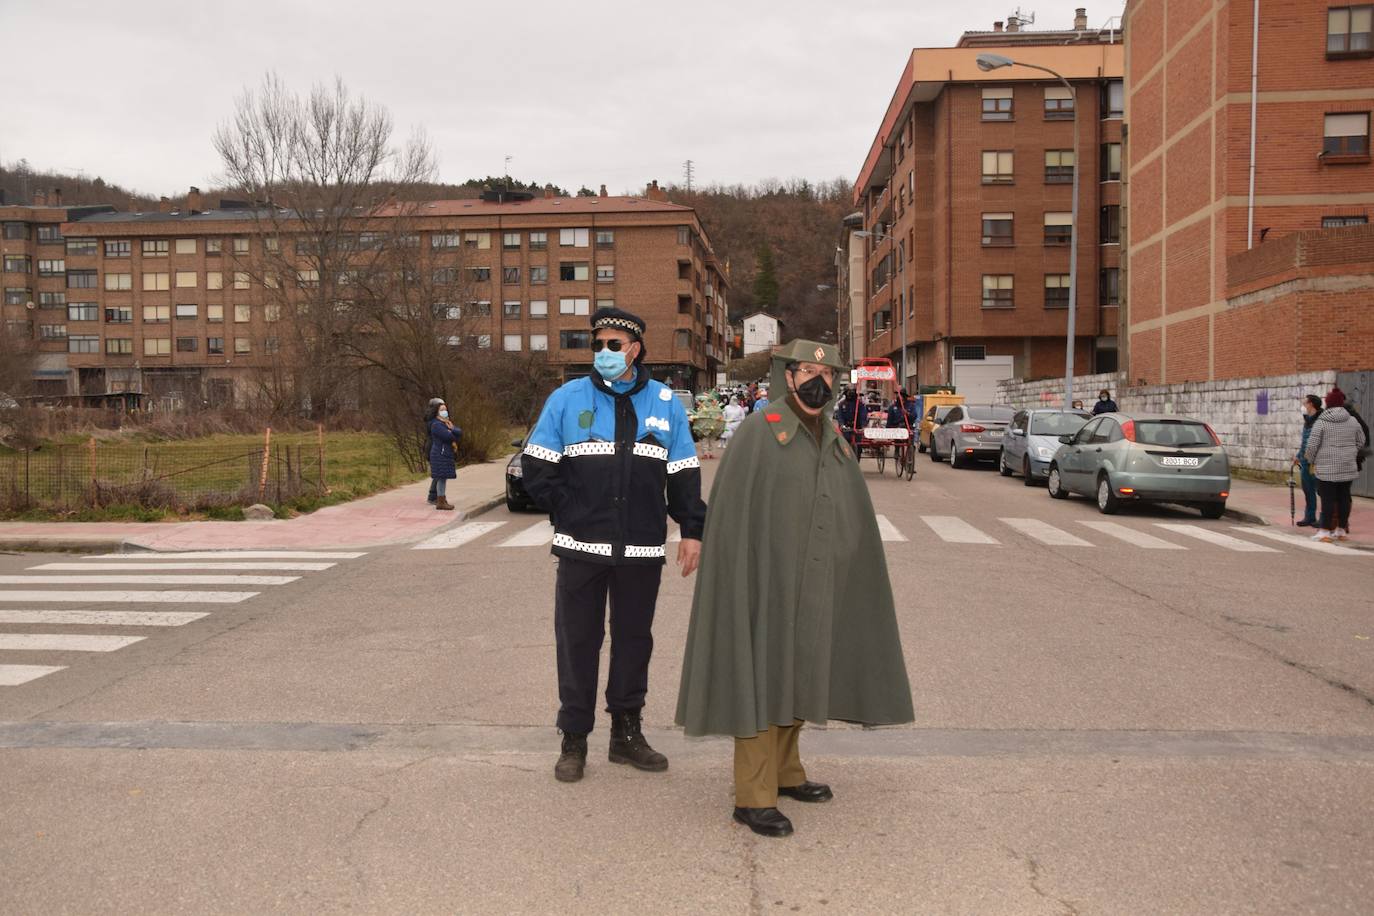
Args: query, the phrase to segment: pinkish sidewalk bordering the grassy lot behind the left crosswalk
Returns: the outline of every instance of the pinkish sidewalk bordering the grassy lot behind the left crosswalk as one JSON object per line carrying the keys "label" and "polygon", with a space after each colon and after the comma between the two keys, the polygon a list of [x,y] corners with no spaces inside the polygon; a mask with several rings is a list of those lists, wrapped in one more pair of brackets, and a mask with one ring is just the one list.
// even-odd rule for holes
{"label": "pinkish sidewalk bordering the grassy lot behind the left crosswalk", "polygon": [[268,522],[0,522],[8,551],[328,549],[416,541],[506,499],[506,459],[470,464],[448,482],[453,512],[425,501],[429,481],[309,515]]}

